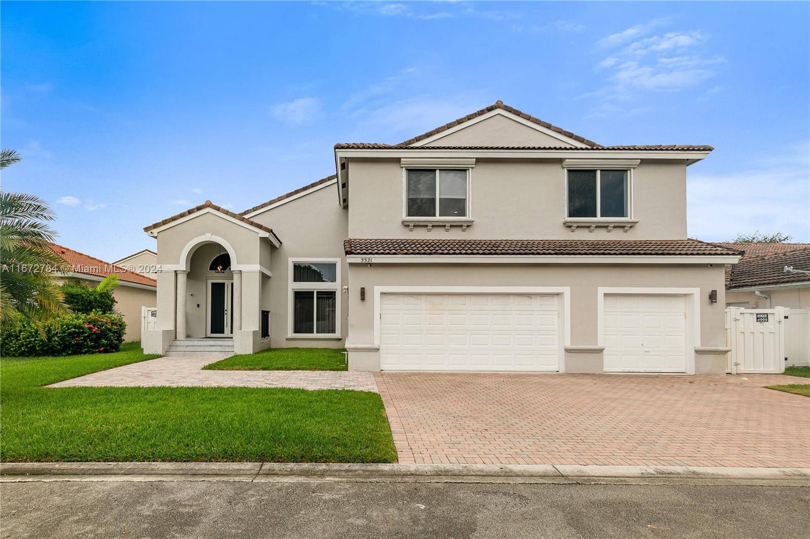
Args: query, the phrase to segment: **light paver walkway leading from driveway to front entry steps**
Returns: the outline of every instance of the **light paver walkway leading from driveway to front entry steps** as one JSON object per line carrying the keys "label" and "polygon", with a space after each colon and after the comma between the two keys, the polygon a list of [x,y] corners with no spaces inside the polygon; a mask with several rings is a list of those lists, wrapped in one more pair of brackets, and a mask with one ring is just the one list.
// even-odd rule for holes
{"label": "light paver walkway leading from driveway to front entry steps", "polygon": [[370,372],[360,371],[202,371],[222,358],[158,358],[94,372],[49,388],[101,386],[203,386],[245,388],[356,389],[377,393]]}

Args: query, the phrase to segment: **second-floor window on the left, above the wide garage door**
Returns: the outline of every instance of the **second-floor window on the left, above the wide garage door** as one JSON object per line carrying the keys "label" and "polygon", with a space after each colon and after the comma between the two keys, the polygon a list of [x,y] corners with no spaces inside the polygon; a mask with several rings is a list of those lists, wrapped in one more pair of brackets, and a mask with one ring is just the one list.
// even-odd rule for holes
{"label": "second-floor window on the left, above the wide garage door", "polygon": [[408,168],[407,217],[467,217],[467,171]]}

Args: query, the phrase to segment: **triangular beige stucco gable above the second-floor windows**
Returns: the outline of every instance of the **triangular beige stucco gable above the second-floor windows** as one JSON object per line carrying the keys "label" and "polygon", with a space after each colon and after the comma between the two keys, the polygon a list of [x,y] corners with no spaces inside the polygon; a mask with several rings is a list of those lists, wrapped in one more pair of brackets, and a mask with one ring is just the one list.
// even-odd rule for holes
{"label": "triangular beige stucco gable above the second-floor windows", "polygon": [[424,146],[573,146],[559,138],[497,115],[445,134]]}

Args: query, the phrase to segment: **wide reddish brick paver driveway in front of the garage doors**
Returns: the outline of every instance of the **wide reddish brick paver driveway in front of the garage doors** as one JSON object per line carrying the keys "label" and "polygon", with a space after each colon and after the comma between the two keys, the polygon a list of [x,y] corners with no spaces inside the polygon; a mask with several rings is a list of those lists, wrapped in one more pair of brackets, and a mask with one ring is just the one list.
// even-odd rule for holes
{"label": "wide reddish brick paver driveway in front of the garage doors", "polygon": [[810,467],[806,378],[376,376],[400,462]]}

